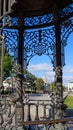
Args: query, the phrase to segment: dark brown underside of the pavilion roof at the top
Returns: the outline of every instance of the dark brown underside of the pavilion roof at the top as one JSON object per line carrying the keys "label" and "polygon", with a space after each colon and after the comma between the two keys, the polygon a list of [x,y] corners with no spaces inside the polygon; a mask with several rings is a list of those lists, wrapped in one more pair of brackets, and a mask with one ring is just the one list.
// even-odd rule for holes
{"label": "dark brown underside of the pavilion roof at the top", "polygon": [[47,13],[52,13],[55,5],[59,9],[66,7],[70,3],[73,3],[72,0],[17,0],[12,6],[14,14],[18,15],[20,10],[24,16],[39,16]]}

